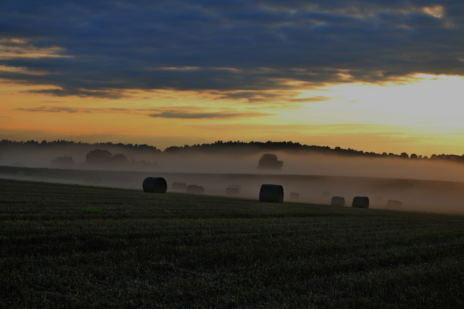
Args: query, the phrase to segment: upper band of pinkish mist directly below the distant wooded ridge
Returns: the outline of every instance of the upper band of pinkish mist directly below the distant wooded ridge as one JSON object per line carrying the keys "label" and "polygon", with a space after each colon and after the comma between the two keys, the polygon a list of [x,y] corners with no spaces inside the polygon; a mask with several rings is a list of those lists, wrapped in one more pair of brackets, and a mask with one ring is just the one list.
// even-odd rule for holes
{"label": "upper band of pinkish mist directly below the distant wooded ridge", "polygon": [[[99,147],[102,148],[102,147]],[[104,149],[113,155],[123,153],[135,161],[158,162],[158,167],[135,166],[128,164],[84,164],[86,154],[96,149],[89,145],[77,149],[73,146],[34,149],[33,151],[1,150],[1,165],[25,167],[53,167],[51,162],[58,156],[70,156],[77,163],[72,169],[85,170],[134,170],[162,171],[176,173],[226,173],[226,174],[282,174],[282,175],[322,175],[387,177],[404,179],[426,179],[464,182],[464,164],[444,160],[405,160],[403,158],[369,158],[323,154],[311,151],[265,151],[258,150],[231,153],[182,152],[158,153],[121,149],[107,146]],[[103,148],[102,148],[103,149]],[[281,170],[258,170],[257,164],[264,152],[277,154],[284,161]]]}

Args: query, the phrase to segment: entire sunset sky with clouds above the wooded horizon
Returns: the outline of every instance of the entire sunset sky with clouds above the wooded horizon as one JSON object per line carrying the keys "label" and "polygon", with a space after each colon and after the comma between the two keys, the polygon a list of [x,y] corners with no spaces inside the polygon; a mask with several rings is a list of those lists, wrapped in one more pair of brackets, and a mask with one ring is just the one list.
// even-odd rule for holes
{"label": "entire sunset sky with clouds above the wooded horizon", "polygon": [[0,138],[464,153],[464,2],[0,2]]}

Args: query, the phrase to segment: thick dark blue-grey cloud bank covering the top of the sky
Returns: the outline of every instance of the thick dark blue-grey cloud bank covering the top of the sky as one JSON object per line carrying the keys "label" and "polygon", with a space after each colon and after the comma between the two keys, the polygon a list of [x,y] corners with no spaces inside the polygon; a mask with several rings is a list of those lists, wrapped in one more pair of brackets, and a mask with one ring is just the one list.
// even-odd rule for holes
{"label": "thick dark blue-grey cloud bank covering the top of the sky", "polygon": [[34,92],[57,96],[178,89],[214,90],[224,98],[243,91],[249,101],[265,101],[270,97],[245,92],[413,73],[464,75],[463,6],[462,0],[1,1],[0,65],[23,69],[2,70],[0,78],[54,85]]}

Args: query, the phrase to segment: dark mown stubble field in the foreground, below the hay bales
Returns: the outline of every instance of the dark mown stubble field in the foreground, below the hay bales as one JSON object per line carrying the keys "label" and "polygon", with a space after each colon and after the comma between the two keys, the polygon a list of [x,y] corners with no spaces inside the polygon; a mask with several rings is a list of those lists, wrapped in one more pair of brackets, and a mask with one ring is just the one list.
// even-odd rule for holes
{"label": "dark mown stubble field in the foreground, below the hay bales", "polygon": [[459,308],[464,217],[0,179],[3,308]]}

